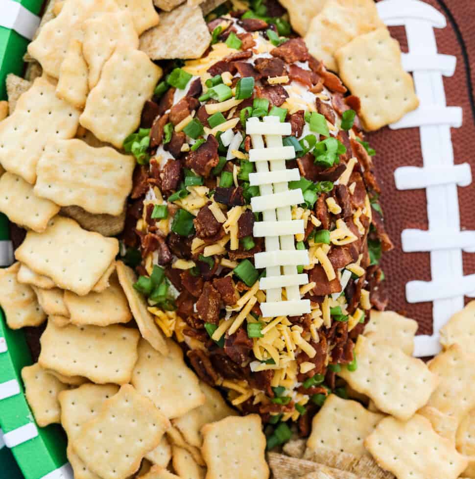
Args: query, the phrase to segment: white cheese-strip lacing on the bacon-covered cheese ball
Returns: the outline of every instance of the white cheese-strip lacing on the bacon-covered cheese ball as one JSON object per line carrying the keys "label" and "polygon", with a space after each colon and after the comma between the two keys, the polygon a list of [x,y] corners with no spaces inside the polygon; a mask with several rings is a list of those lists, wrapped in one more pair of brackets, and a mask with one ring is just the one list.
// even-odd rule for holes
{"label": "white cheese-strip lacing on the bacon-covered cheese ball", "polygon": [[[259,282],[259,287],[266,291],[266,301],[261,303],[262,316],[309,313],[310,301],[301,299],[299,291],[309,277],[297,273],[297,265],[309,263],[309,253],[295,249],[294,237],[304,233],[304,222],[292,219],[291,211],[292,205],[304,202],[304,196],[302,190],[288,188],[288,182],[299,180],[300,173],[297,168],[285,168],[285,160],[295,158],[295,150],[282,142],[283,135],[291,134],[291,125],[272,116],[264,117],[262,122],[250,118],[246,121],[246,133],[253,146],[249,160],[256,163],[257,171],[249,174],[249,182],[259,186],[261,192],[261,196],[251,198],[251,209],[262,213],[262,221],[254,223],[253,234],[265,242],[265,251],[254,255],[256,267],[265,268],[266,272]],[[282,300],[283,288],[286,301]]]}

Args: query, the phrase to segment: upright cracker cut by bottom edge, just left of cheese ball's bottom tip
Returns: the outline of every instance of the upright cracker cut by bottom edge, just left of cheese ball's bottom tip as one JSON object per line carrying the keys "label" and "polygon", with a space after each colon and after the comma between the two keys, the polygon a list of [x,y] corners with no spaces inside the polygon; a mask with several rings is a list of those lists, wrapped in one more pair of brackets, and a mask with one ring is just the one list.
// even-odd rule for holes
{"label": "upright cracker cut by bottom edge, just left of cheese ball's bottom tip", "polygon": [[[206,424],[202,453],[208,479],[267,479],[265,436],[257,414],[231,416]],[[252,452],[252,454],[249,454]]]}

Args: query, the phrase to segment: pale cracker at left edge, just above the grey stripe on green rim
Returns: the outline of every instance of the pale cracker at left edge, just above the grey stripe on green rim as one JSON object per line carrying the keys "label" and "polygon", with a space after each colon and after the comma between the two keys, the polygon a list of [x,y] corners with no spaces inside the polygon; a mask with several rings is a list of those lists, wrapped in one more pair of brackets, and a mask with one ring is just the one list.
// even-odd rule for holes
{"label": "pale cracker at left edge, just above the grey stripe on green rim", "polygon": [[33,185],[21,176],[5,172],[0,177],[0,211],[10,221],[41,233],[59,212],[59,206],[37,196]]}

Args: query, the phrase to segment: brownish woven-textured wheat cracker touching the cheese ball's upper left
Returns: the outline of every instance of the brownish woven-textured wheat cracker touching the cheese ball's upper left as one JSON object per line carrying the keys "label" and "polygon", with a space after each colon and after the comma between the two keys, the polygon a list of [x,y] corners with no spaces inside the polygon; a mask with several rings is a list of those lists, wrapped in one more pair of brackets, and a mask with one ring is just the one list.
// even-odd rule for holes
{"label": "brownish woven-textured wheat cracker touching the cheese ball's upper left", "polygon": [[210,42],[211,34],[201,9],[183,4],[162,13],[160,24],[140,37],[140,49],[152,60],[200,58]]}

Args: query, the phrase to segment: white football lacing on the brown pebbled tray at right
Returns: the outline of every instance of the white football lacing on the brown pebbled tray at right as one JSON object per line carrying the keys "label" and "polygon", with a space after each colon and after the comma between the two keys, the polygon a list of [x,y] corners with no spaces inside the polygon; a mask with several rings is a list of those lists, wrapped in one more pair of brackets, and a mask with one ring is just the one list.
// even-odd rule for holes
{"label": "white football lacing on the brown pebbled tray at right", "polygon": [[[402,167],[395,172],[400,190],[425,188],[428,231],[404,230],[403,251],[429,251],[431,281],[406,284],[408,302],[432,302],[433,334],[415,339],[414,356],[440,351],[439,330],[464,306],[464,295],[475,295],[475,275],[463,275],[462,249],[475,247],[475,232],[460,231],[457,185],[471,183],[470,166],[454,165],[451,127],[462,124],[462,109],[448,107],[442,75],[454,72],[456,58],[441,55],[433,28],[444,28],[444,15],[419,0],[383,0],[377,3],[387,25],[404,25],[409,53],[403,58],[413,73],[420,106],[390,125],[420,127],[423,168]],[[424,68],[423,68],[424,67]]]}

